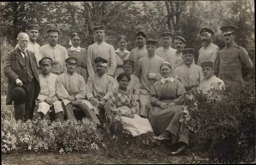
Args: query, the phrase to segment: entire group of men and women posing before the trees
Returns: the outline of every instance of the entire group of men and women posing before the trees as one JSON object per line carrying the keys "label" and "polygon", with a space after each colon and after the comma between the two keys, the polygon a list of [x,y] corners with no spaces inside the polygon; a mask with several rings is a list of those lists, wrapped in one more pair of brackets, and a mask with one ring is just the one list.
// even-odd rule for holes
{"label": "entire group of men and women posing before the trees", "polygon": [[[172,154],[179,155],[189,140],[189,130],[182,122],[185,102],[195,99],[197,90],[240,89],[243,77],[253,68],[246,50],[233,41],[235,29],[231,25],[221,28],[226,45],[219,50],[212,43],[214,32],[202,28],[204,46],[195,64],[194,49],[185,48],[181,36],[174,37],[172,48],[173,34],[169,32],[159,34],[162,46],[158,48],[158,41],[146,40],[143,31],[137,32],[137,47],[130,52],[126,36],[118,37],[115,50],[104,41],[105,26],[98,25],[93,28],[96,42],[88,50],[80,47],[82,39],[77,33],[66,49],[57,44],[56,29],[47,31],[49,43],[39,47],[39,26],[28,25],[28,34],[18,35],[18,45],[5,62],[9,79],[6,102],[11,105],[14,101],[16,120],[33,119],[36,99],[37,112],[47,120],[54,114],[60,122],[86,116],[100,127],[117,117],[123,130],[133,136],[149,133],[154,142],[178,144]],[[26,103],[14,92],[16,86],[26,86]]]}

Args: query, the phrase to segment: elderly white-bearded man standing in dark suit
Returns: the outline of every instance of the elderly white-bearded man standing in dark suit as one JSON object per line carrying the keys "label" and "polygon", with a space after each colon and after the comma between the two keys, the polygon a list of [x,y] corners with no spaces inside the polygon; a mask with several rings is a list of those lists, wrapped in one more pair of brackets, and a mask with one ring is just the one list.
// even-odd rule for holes
{"label": "elderly white-bearded man standing in dark suit", "polygon": [[33,119],[35,101],[40,92],[39,72],[34,52],[27,50],[29,36],[19,33],[18,47],[8,52],[4,73],[8,78],[6,104],[12,104],[12,90],[15,87],[26,86],[29,93],[25,103],[14,101],[14,116],[18,119]]}

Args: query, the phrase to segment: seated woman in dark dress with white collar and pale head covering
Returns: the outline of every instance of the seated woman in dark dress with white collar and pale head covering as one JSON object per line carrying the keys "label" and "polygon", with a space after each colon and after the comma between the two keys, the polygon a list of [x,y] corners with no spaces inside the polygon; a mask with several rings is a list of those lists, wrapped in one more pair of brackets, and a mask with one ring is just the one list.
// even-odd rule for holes
{"label": "seated woman in dark dress with white collar and pale head covering", "polygon": [[172,153],[179,155],[188,145],[188,129],[184,132],[179,121],[185,107],[182,104],[186,90],[182,82],[172,77],[172,67],[168,62],[160,66],[160,72],[161,79],[155,82],[151,90],[153,109],[148,115],[148,120],[157,135],[153,140],[160,143],[179,143],[179,151]]}

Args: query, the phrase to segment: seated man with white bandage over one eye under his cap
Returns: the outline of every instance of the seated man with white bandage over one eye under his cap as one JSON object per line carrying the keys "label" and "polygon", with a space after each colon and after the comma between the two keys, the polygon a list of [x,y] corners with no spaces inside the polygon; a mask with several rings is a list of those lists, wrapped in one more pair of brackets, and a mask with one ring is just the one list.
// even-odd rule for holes
{"label": "seated man with white bandage over one eye under his cap", "polygon": [[87,81],[87,99],[94,107],[94,112],[101,120],[104,118],[104,109],[107,115],[110,114],[106,106],[110,92],[113,88],[114,78],[108,74],[108,60],[101,57],[94,59],[96,73],[90,75]]}

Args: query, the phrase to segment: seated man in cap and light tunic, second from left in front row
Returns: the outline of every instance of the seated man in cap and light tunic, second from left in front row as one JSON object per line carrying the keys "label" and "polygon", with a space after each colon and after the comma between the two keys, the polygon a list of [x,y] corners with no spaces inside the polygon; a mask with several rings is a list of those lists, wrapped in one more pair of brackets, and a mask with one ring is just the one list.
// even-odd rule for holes
{"label": "seated man in cap and light tunic, second from left in front row", "polygon": [[86,100],[86,82],[84,78],[75,72],[77,59],[69,57],[65,60],[67,71],[57,78],[57,96],[65,106],[67,119],[74,120],[73,108],[79,108],[89,119],[95,120],[98,126],[100,122],[93,111],[93,106]]}

